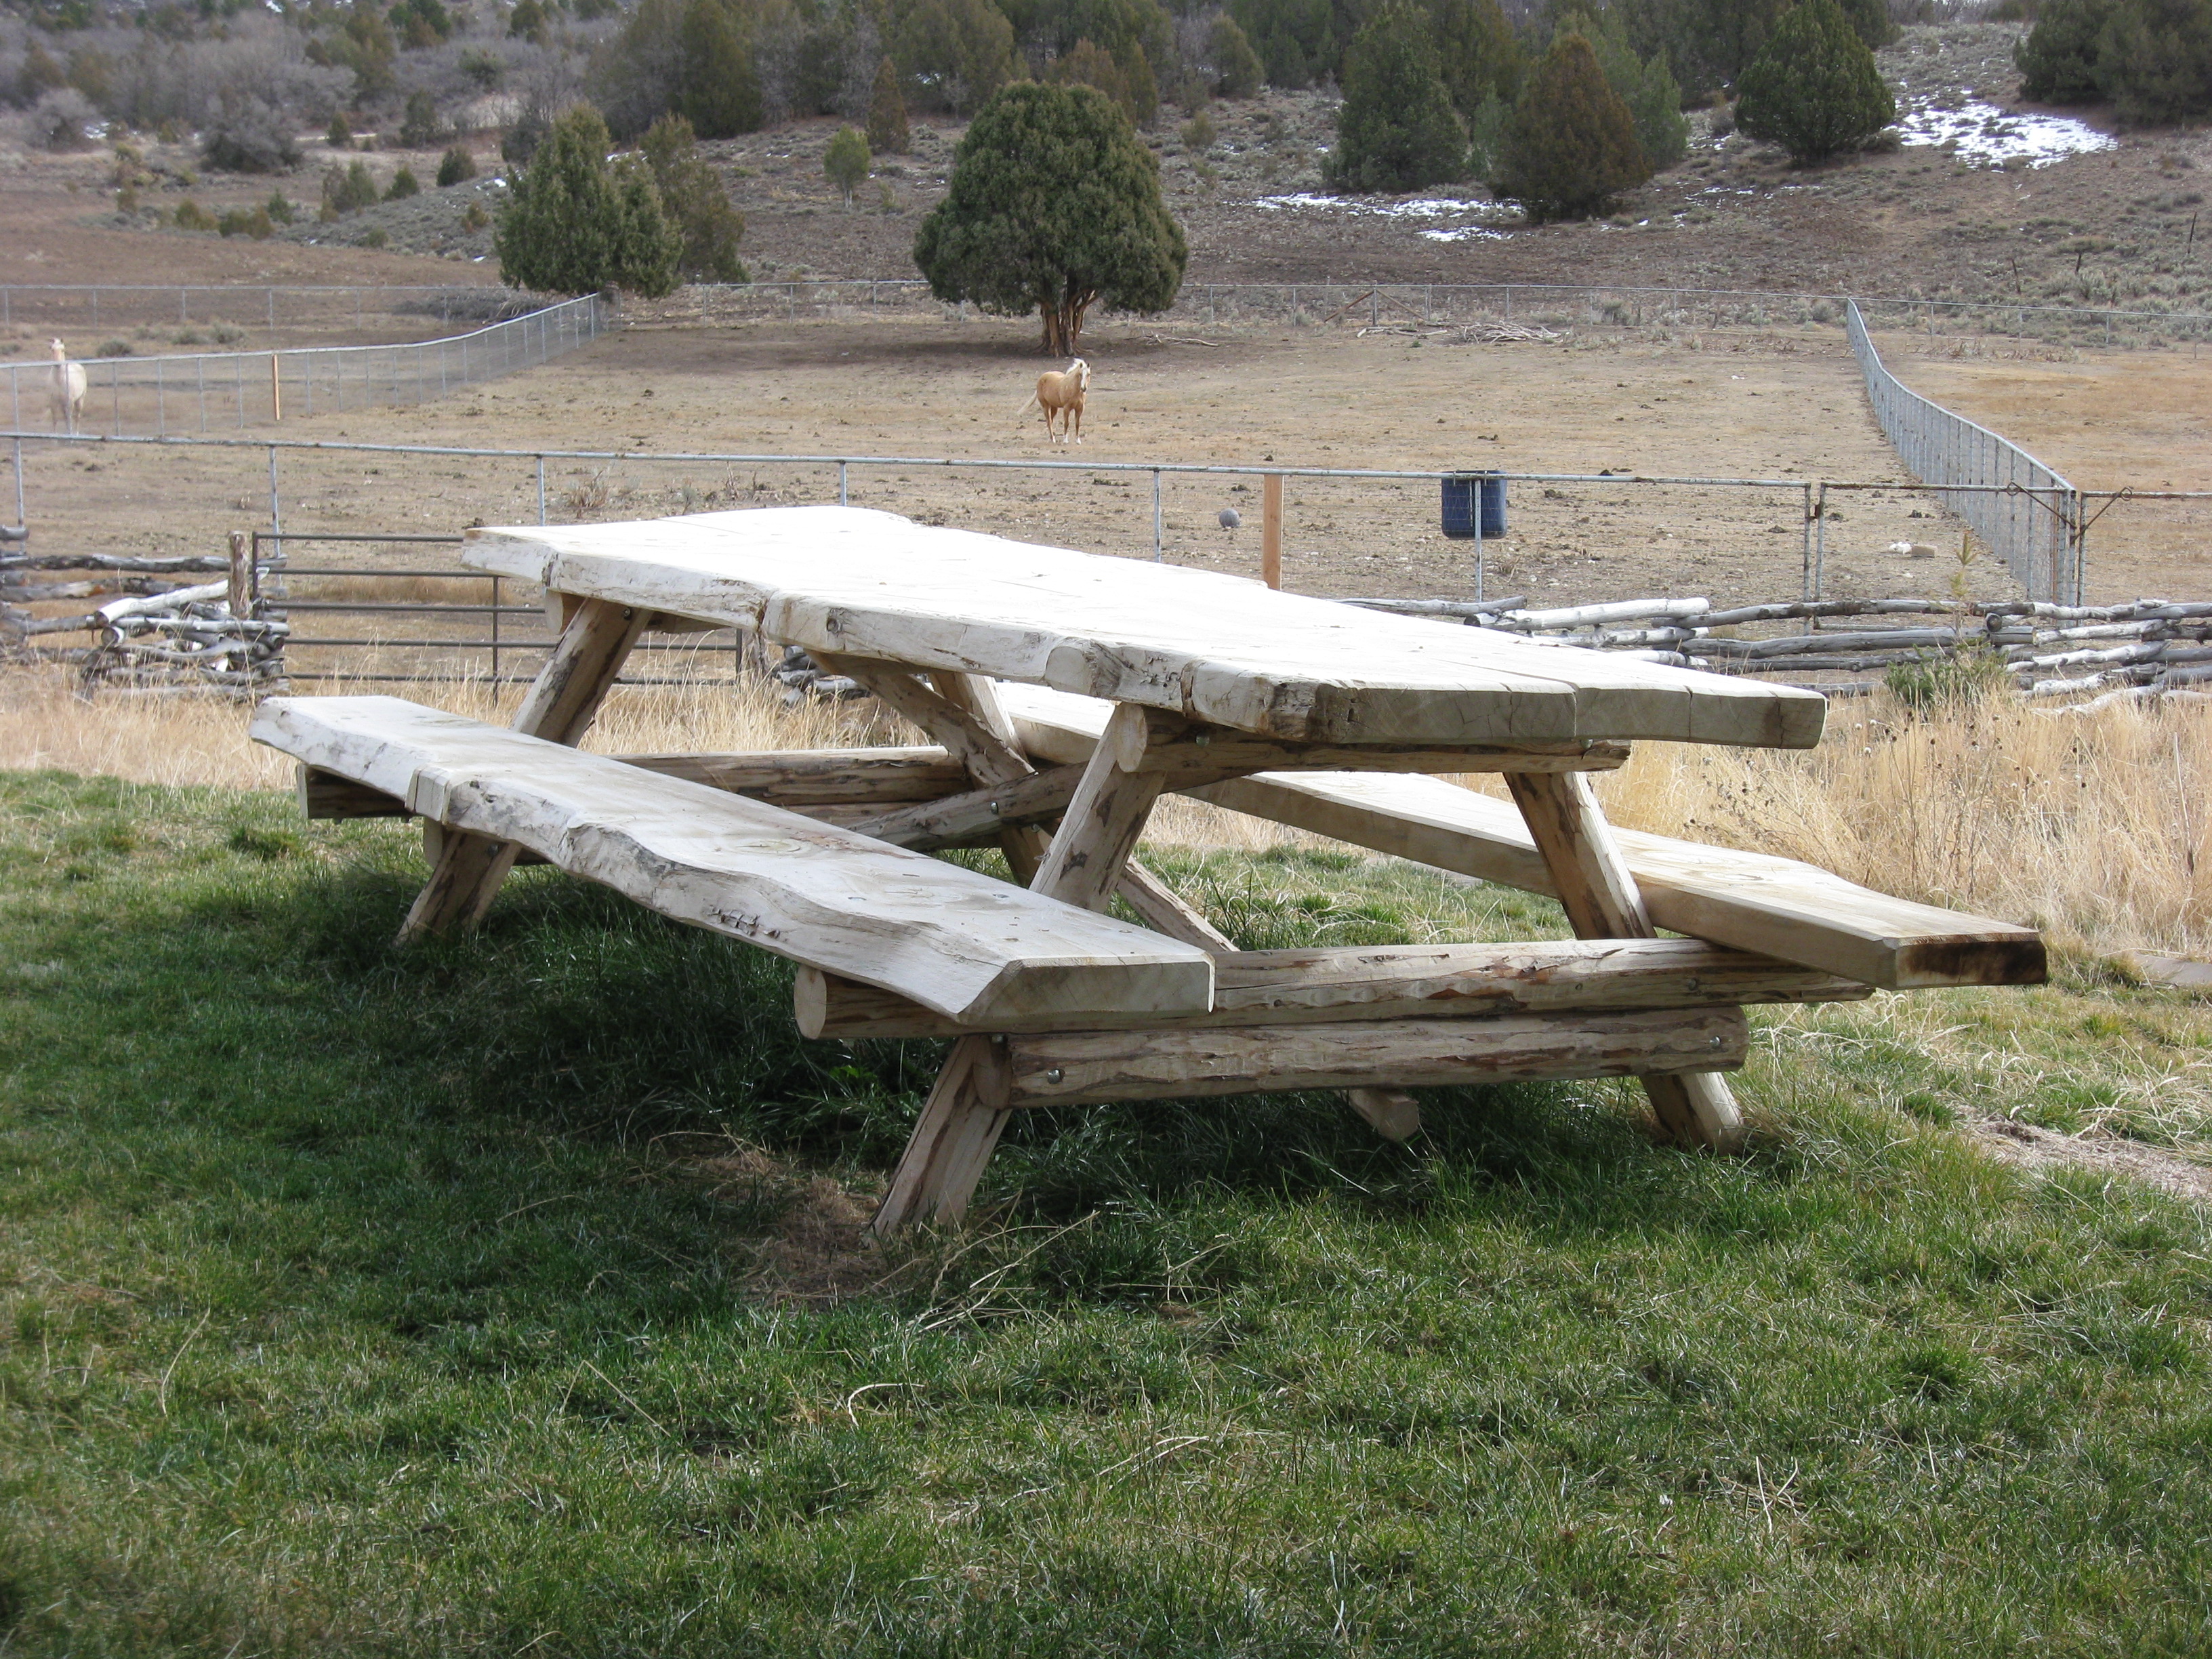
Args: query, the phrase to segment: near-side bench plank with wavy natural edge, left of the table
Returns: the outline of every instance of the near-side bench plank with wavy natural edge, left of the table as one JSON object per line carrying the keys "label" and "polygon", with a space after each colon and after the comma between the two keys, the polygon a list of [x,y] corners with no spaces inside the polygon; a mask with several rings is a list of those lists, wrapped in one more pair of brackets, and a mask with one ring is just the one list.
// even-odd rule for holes
{"label": "near-side bench plank with wavy natural edge, left of the table", "polygon": [[1212,958],[703,783],[396,697],[274,697],[252,737],[664,916],[969,1024],[1203,1013]]}

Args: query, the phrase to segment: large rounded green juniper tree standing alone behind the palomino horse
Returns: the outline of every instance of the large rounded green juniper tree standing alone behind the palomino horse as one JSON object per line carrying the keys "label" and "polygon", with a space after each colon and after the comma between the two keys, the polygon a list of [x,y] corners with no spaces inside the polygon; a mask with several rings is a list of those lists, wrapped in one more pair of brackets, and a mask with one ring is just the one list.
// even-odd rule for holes
{"label": "large rounded green juniper tree standing alone behind the palomino horse", "polygon": [[1168,310],[1190,250],[1159,195],[1159,161],[1106,93],[1015,82],[960,139],[914,263],[940,301],[1037,312],[1044,349],[1071,354],[1093,305]]}

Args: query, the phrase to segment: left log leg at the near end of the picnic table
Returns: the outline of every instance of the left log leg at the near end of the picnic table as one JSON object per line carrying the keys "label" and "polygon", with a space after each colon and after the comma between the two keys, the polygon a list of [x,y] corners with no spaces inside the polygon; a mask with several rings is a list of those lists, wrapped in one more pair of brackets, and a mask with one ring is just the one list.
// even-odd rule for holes
{"label": "left log leg at the near end of the picnic table", "polygon": [[[1128,849],[1144,834],[1144,821],[1166,783],[1166,774],[1124,770],[1117,759],[1141,754],[1144,741],[1144,710],[1117,708],[1035,880],[1029,883],[1031,891],[1084,909],[1106,909]],[[876,1210],[872,1228],[878,1234],[914,1221],[958,1221],[967,1212],[982,1166],[991,1161],[1000,1130],[1006,1128],[1006,1095],[1002,1086],[993,1088],[993,1060],[991,1037],[960,1037],[953,1044],[891,1172],[891,1190]]]}

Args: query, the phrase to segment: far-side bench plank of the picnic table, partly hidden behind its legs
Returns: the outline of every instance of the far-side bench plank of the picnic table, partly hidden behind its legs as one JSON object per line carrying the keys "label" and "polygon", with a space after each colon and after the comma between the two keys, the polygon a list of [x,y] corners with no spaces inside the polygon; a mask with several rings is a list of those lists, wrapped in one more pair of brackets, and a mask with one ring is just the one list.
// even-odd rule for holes
{"label": "far-side bench plank of the picnic table, partly hidden behind its legs", "polygon": [[[1006,686],[1004,695],[1024,748],[1042,761],[1073,763],[1088,754],[1110,712],[1031,686]],[[1513,803],[1444,779],[1259,772],[1190,794],[1356,847],[1557,896]],[[1891,898],[1796,858],[1635,830],[1615,836],[1652,922],[1674,933],[1889,991],[2046,978],[2044,940],[2033,927]]]}

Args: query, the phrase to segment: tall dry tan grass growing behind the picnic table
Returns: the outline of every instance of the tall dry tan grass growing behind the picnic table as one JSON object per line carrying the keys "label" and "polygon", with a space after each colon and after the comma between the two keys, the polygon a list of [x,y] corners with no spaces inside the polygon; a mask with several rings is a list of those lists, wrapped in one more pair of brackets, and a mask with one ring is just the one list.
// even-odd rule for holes
{"label": "tall dry tan grass growing behind the picnic table", "polygon": [[[489,721],[507,721],[520,697],[473,681],[356,690],[398,690]],[[874,703],[794,710],[761,686],[723,681],[617,688],[588,748],[911,741]],[[66,675],[35,670],[0,675],[0,768],[243,790],[290,781],[290,761],[246,741],[239,703],[82,701]],[[1936,717],[1887,699],[1838,703],[1816,750],[1646,743],[1597,787],[1626,827],[1803,858],[1902,898],[2033,922],[2059,949],[2212,953],[2212,708],[2201,703],[2062,714],[1989,701]],[[1318,845],[1199,801],[1161,803],[1148,838],[1243,852]]]}

